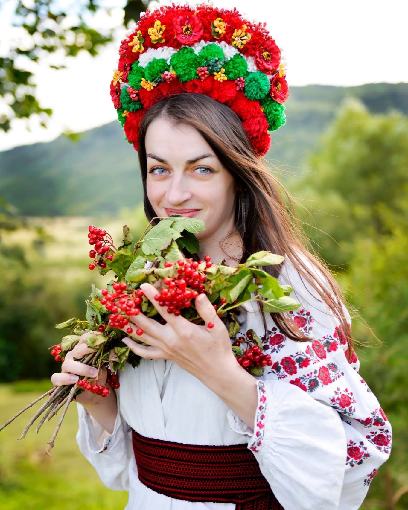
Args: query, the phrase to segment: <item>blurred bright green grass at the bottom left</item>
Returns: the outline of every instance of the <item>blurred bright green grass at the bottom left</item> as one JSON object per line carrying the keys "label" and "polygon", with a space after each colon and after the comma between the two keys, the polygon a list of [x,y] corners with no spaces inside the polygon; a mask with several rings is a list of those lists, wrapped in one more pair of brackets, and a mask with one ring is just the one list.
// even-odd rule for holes
{"label": "blurred bright green grass at the bottom left", "polygon": [[[0,424],[50,388],[49,380],[0,385]],[[27,436],[18,441],[39,407],[40,402],[0,432],[0,507],[3,510],[123,509],[127,492],[107,489],[79,451],[75,441],[78,430],[75,403],[65,415],[51,451],[53,458],[45,454],[45,447],[59,414],[44,423],[36,434],[38,419]]]}

